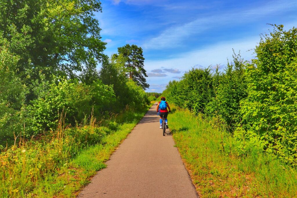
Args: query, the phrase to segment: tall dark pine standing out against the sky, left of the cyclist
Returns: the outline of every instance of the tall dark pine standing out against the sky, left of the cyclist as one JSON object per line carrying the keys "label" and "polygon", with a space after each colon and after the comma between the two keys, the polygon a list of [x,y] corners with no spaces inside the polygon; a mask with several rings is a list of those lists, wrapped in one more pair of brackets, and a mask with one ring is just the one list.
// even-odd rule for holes
{"label": "tall dark pine standing out against the sky, left of the cyclist", "polygon": [[[149,88],[149,84],[146,83],[146,70],[143,68],[143,54],[142,48],[137,45],[125,45],[118,48],[119,54],[124,57],[124,65],[126,68],[126,74],[129,79],[136,82],[143,89]],[[114,58],[119,54],[114,54]]]}

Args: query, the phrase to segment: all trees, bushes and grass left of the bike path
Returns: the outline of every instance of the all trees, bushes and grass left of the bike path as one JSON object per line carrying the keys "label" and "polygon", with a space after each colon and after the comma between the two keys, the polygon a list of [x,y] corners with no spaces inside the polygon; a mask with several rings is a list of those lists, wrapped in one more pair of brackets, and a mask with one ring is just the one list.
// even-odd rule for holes
{"label": "all trees, bushes and grass left of the bike path", "polygon": [[148,110],[142,49],[103,54],[98,0],[0,10],[0,197],[74,197]]}

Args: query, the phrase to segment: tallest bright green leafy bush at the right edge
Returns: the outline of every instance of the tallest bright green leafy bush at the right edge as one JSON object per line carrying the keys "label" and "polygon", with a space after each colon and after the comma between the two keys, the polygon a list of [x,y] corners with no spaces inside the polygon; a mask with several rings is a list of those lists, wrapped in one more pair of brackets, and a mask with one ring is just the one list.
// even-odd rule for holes
{"label": "tallest bright green leafy bush at the right edge", "polygon": [[247,68],[248,97],[242,101],[244,131],[268,153],[297,164],[297,29],[274,27],[263,35]]}

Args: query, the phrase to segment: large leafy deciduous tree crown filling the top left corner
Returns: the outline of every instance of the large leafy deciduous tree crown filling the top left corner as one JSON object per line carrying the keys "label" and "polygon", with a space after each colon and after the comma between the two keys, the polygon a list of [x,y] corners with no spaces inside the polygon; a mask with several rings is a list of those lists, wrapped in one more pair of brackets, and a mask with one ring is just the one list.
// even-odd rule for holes
{"label": "large leafy deciduous tree crown filling the top left corner", "polygon": [[83,67],[102,60],[105,44],[100,39],[94,12],[99,0],[0,0],[0,37],[19,56],[18,73],[29,82],[51,75],[76,78]]}

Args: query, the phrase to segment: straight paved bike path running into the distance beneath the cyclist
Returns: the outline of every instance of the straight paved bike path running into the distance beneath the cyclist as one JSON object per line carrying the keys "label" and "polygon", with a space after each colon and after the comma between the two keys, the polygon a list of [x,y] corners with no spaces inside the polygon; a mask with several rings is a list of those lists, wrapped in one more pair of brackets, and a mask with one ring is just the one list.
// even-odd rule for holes
{"label": "straight paved bike path running into the distance beneath the cyclist", "polygon": [[170,131],[165,133],[153,105],[78,197],[198,197]]}

